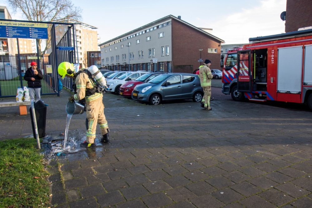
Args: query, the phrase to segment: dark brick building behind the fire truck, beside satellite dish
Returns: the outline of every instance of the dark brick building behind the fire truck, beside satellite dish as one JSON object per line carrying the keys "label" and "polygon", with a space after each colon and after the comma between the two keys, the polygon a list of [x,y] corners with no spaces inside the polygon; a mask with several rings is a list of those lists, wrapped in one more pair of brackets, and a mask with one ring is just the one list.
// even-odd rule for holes
{"label": "dark brick building behind the fire truck, beside satellite dish", "polygon": [[287,0],[285,32],[312,26],[312,0]]}

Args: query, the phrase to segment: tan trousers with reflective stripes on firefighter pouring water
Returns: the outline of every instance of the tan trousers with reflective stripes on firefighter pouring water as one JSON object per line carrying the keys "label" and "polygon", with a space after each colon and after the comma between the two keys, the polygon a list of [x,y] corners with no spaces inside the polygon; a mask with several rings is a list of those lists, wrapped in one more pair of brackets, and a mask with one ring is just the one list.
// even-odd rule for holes
{"label": "tan trousers with reflective stripes on firefighter pouring water", "polygon": [[88,123],[86,123],[86,140],[87,143],[94,143],[96,125],[100,124],[101,134],[107,133],[108,125],[104,115],[104,104],[102,99],[86,102],[86,113]]}

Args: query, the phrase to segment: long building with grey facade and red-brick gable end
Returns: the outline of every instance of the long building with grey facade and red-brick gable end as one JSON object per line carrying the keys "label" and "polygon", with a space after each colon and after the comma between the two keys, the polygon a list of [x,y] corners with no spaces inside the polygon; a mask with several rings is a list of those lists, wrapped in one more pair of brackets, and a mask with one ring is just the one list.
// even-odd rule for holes
{"label": "long building with grey facade and red-brick gable end", "polygon": [[212,61],[211,69],[220,68],[221,43],[224,41],[220,38],[180,16],[169,15],[99,46],[105,69],[193,73],[200,65],[199,49],[203,49],[202,60]]}

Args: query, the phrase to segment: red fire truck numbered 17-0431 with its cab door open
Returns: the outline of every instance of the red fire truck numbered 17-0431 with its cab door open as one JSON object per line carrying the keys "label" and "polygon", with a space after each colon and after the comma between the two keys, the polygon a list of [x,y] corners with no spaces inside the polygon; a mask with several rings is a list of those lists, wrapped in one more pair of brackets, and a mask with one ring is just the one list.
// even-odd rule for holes
{"label": "red fire truck numbered 17-0431 with its cab door open", "polygon": [[222,93],[235,101],[306,102],[312,109],[312,29],[249,41],[222,55]]}

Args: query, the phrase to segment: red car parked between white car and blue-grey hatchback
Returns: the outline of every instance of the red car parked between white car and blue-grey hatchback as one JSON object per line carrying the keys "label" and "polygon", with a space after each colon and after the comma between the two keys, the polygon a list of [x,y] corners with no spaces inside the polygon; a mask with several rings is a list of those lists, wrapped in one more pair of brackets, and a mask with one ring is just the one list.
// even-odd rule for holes
{"label": "red car parked between white car and blue-grey hatchback", "polygon": [[143,84],[145,82],[148,82],[149,80],[153,79],[154,77],[163,74],[164,72],[152,72],[147,73],[142,76],[139,76],[135,80],[131,80],[128,82],[125,82],[123,85],[120,86],[120,94],[124,97],[131,97],[132,91],[136,85]]}

